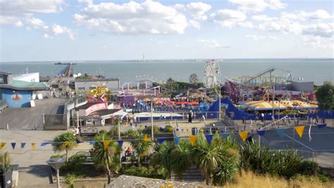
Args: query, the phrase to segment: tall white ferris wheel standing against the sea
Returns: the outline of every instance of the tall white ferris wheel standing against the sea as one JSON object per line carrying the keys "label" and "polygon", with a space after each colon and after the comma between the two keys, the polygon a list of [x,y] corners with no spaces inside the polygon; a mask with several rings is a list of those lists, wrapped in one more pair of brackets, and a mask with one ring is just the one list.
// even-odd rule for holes
{"label": "tall white ferris wheel standing against the sea", "polygon": [[206,61],[204,66],[204,85],[207,88],[217,87],[221,83],[221,68],[216,61]]}

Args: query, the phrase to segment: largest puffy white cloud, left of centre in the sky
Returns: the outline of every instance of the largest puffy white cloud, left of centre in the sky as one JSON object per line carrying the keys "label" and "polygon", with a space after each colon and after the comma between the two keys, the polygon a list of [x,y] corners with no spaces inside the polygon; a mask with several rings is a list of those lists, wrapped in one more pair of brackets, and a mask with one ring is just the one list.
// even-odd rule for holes
{"label": "largest puffy white cloud, left of centre in the sky", "polygon": [[73,18],[78,25],[118,34],[183,33],[187,27],[185,15],[154,1],[92,4]]}

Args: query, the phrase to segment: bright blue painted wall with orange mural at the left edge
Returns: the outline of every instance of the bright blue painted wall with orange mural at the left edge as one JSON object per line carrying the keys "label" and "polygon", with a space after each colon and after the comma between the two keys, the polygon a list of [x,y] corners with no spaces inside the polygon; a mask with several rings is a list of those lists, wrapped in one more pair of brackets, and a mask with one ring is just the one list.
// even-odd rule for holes
{"label": "bright blue painted wall with orange mural at the left edge", "polygon": [[30,107],[32,91],[19,91],[2,89],[2,100],[6,101],[9,108]]}

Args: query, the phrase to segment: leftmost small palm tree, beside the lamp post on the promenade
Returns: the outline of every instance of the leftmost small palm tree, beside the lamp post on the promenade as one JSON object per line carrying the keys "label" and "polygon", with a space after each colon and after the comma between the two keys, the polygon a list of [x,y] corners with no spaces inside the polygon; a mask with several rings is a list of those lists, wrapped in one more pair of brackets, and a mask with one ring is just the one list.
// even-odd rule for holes
{"label": "leftmost small palm tree, beside the lamp post on the promenade", "polygon": [[54,151],[66,151],[66,162],[68,161],[68,151],[78,146],[76,142],[77,137],[72,132],[65,132],[54,138],[54,144],[52,144]]}

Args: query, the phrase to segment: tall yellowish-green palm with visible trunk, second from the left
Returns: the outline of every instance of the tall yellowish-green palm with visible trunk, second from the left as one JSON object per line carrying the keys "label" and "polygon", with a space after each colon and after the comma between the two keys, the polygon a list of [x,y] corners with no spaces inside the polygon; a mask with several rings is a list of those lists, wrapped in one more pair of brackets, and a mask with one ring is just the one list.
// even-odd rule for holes
{"label": "tall yellowish-green palm with visible trunk, second from the left", "polygon": [[[95,144],[92,152],[92,159],[97,166],[104,166],[107,170],[108,184],[110,183],[110,168],[118,173],[119,167],[119,154],[120,146],[117,142],[112,140],[112,137],[106,132],[100,132],[95,137]],[[104,146],[104,142],[109,142],[107,148]]]}

